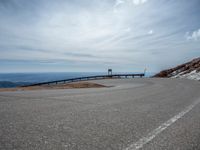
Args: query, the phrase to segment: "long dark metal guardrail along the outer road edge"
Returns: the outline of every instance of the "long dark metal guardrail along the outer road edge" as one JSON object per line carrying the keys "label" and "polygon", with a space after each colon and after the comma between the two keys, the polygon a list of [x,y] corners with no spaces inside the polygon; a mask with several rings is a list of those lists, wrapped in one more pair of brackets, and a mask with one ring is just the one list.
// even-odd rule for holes
{"label": "long dark metal guardrail along the outer road edge", "polygon": [[24,86],[21,86],[21,87],[50,85],[50,84],[58,84],[58,83],[71,83],[71,82],[106,79],[106,78],[122,78],[122,77],[124,77],[124,78],[128,78],[128,77],[134,78],[134,77],[143,77],[143,76],[145,76],[144,73],[98,75],[98,76],[87,76],[87,77],[71,78],[71,79],[65,79],[65,80],[50,81],[50,82],[41,82],[41,83],[35,83],[35,84],[30,84],[30,85],[24,85]]}

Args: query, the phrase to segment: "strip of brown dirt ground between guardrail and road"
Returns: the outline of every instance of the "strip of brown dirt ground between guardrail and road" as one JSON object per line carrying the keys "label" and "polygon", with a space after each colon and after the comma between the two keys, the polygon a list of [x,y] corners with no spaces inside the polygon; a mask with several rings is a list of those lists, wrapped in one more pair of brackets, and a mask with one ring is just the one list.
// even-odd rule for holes
{"label": "strip of brown dirt ground between guardrail and road", "polygon": [[77,82],[67,84],[54,84],[54,85],[41,85],[29,87],[16,87],[16,88],[0,88],[0,92],[5,91],[30,91],[30,90],[51,90],[51,89],[76,89],[76,88],[102,88],[106,87],[101,84],[92,82]]}

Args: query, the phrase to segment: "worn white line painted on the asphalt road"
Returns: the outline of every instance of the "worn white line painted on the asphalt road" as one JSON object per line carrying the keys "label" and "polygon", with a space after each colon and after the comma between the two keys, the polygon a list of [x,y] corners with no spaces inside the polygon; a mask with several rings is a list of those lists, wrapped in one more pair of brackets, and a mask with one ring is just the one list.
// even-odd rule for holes
{"label": "worn white line painted on the asphalt road", "polygon": [[195,101],[194,103],[192,103],[191,105],[186,107],[182,112],[180,112],[176,116],[172,117],[168,121],[164,122],[158,128],[154,129],[146,137],[143,137],[136,143],[129,145],[127,148],[125,148],[125,150],[138,150],[138,149],[142,148],[145,144],[147,144],[148,142],[153,140],[158,134],[160,134],[162,131],[164,131],[169,126],[171,126],[173,123],[175,123],[178,119],[182,118],[185,114],[187,114],[189,111],[191,111],[199,102],[200,102],[200,100]]}

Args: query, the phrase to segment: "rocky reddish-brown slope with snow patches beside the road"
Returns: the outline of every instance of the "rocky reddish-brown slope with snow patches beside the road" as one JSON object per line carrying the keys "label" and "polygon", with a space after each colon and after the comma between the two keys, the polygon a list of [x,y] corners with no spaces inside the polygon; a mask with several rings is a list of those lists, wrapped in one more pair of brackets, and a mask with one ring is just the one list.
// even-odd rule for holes
{"label": "rocky reddish-brown slope with snow patches beside the road", "polygon": [[187,78],[200,81],[200,57],[175,68],[163,70],[154,77]]}

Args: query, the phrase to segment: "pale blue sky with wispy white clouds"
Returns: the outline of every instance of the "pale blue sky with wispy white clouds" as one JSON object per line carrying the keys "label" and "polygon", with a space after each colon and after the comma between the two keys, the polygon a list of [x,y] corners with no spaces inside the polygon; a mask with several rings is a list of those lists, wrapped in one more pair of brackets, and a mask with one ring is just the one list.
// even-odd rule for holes
{"label": "pale blue sky with wispy white clouds", "polygon": [[0,0],[0,72],[159,72],[199,56],[199,0]]}

